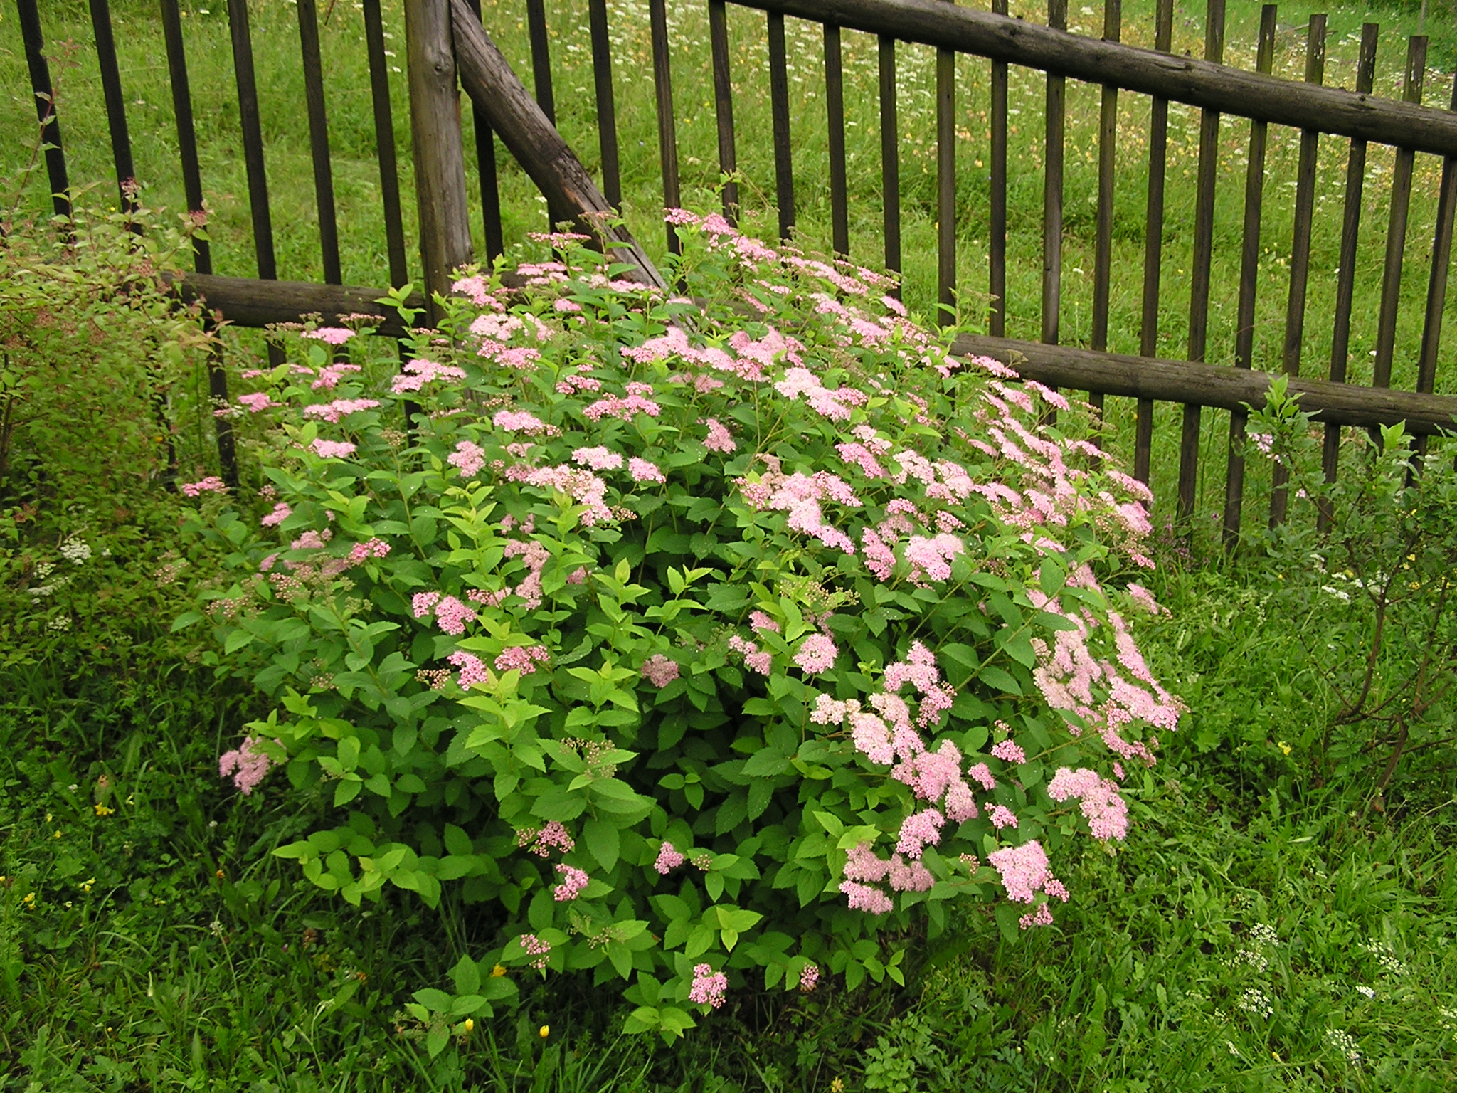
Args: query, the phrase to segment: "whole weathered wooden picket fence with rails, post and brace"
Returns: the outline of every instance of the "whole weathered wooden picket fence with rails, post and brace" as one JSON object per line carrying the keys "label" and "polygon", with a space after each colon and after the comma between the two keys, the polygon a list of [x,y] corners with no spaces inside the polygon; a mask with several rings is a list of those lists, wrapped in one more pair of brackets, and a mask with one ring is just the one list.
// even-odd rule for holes
{"label": "whole weathered wooden picket fence with rails, post and brace", "polygon": [[[696,0],[702,1],[702,0]],[[1457,83],[1448,109],[1423,106],[1422,82],[1426,71],[1426,39],[1407,42],[1403,98],[1372,93],[1377,52],[1377,28],[1367,23],[1361,34],[1361,54],[1355,90],[1323,86],[1326,55],[1326,17],[1313,16],[1307,28],[1304,82],[1271,74],[1276,34],[1275,6],[1266,6],[1260,20],[1259,54],[1253,71],[1224,64],[1224,0],[1208,0],[1205,48],[1202,58],[1170,52],[1173,0],[1155,0],[1155,48],[1135,48],[1120,42],[1120,0],[1104,0],[1103,34],[1091,38],[1067,31],[1067,0],[1049,0],[1046,25],[1034,25],[1007,15],[1007,0],[991,0],[992,10],[973,10],[951,0],[707,0],[712,89],[718,137],[718,166],[723,185],[723,211],[731,222],[739,213],[740,178],[739,141],[734,128],[734,90],[730,71],[727,4],[759,9],[765,13],[768,38],[768,95],[772,114],[774,184],[778,235],[794,238],[796,179],[791,163],[790,124],[791,92],[785,19],[807,20],[823,28],[825,103],[829,124],[829,207],[832,245],[849,254],[849,208],[847,185],[847,140],[844,74],[841,63],[842,31],[877,36],[880,86],[880,168],[883,184],[883,252],[879,259],[890,270],[902,265],[900,216],[900,131],[896,103],[896,60],[903,44],[919,44],[937,51],[937,267],[938,300],[954,307],[959,287],[956,264],[956,156],[957,106],[956,58],[970,55],[989,63],[989,223],[988,283],[991,297],[989,332],[962,337],[957,350],[1016,361],[1018,370],[1043,383],[1085,391],[1101,407],[1109,395],[1136,399],[1134,471],[1148,481],[1154,436],[1154,404],[1182,407],[1179,479],[1174,497],[1179,517],[1195,509],[1199,472],[1202,414],[1208,408],[1230,411],[1230,444],[1225,466],[1224,533],[1233,539],[1240,529],[1244,500],[1244,465],[1240,440],[1246,428],[1246,405],[1263,401],[1271,375],[1252,369],[1254,297],[1262,254],[1262,194],[1269,125],[1300,130],[1300,165],[1295,192],[1294,238],[1291,240],[1289,289],[1284,332],[1282,367],[1291,377],[1289,388],[1301,393],[1301,405],[1324,423],[1326,474],[1333,479],[1343,427],[1371,428],[1406,421],[1407,428],[1425,437],[1435,434],[1457,414],[1457,398],[1432,393],[1441,347],[1442,310],[1451,265],[1453,219],[1457,210]],[[299,45],[306,90],[310,134],[318,233],[323,256],[323,281],[277,280],[272,219],[264,168],[264,140],[258,114],[258,86],[249,38],[246,0],[226,0],[230,22],[233,68],[236,76],[239,122],[248,169],[248,200],[252,214],[256,275],[223,277],[213,271],[205,242],[195,249],[195,274],[181,286],[189,297],[205,297],[210,307],[242,326],[262,326],[293,321],[303,313],[325,316],[377,310],[373,303],[383,294],[379,287],[344,286],[339,271],[339,240],[325,111],[325,83],[319,57],[318,3],[296,0]],[[670,41],[669,0],[650,0],[653,80],[657,108],[659,162],[661,165],[663,204],[680,204],[676,118],[672,87],[673,42]],[[127,130],[125,99],[112,42],[106,0],[89,0],[95,28],[95,47],[109,121],[109,136],[118,185],[133,178]],[[194,134],[192,103],[188,89],[186,52],[178,0],[159,0],[165,31],[170,87],[178,125],[181,171],[189,208],[201,210],[204,188]],[[36,93],[38,118],[47,127],[47,169],[55,210],[68,211],[67,173],[60,118],[51,105],[51,80],[47,70],[44,28],[36,0],[17,0],[20,28]],[[389,66],[386,63],[380,0],[363,0],[374,134],[379,150],[382,223],[388,242],[389,277],[395,286],[407,281],[407,242],[401,211],[402,192],[395,162],[395,118],[390,112]],[[525,0],[530,41],[533,93],[526,93],[506,58],[482,26],[478,0],[407,0],[407,77],[409,85],[409,128],[414,150],[415,203],[420,213],[420,262],[428,291],[449,290],[450,271],[472,259],[466,165],[463,160],[460,89],[472,101],[476,162],[472,165],[481,192],[487,258],[503,252],[501,198],[497,185],[497,146],[492,133],[520,162],[546,195],[554,220],[571,220],[583,213],[621,205],[621,163],[618,147],[615,82],[612,71],[612,28],[608,0],[587,0],[590,54],[593,60],[594,106],[600,152],[600,179],[592,179],[554,127],[555,93],[552,87],[552,35],[543,0]],[[1008,70],[1021,66],[1045,73],[1046,102],[1043,115],[1042,162],[1042,291],[1040,337],[1036,341],[1010,340],[1007,328],[1007,223],[1008,223]],[[740,73],[740,77],[743,73]],[[1068,337],[1062,319],[1064,254],[1064,157],[1068,80],[1081,80],[1101,89],[1099,125],[1099,188],[1093,264],[1091,332],[1087,347],[1064,344]],[[1113,256],[1113,195],[1118,187],[1118,111],[1119,95],[1135,93],[1151,99],[1147,165],[1147,205],[1144,223],[1142,322],[1139,353],[1119,354],[1107,350],[1109,294]],[[1161,303],[1161,265],[1164,240],[1164,191],[1169,149],[1170,103],[1185,103],[1201,112],[1198,195],[1189,300],[1187,345],[1182,360],[1157,357]],[[1241,240],[1241,281],[1231,366],[1205,363],[1209,331],[1211,255],[1214,246],[1215,179],[1221,121],[1243,118],[1249,122],[1247,181]],[[1333,337],[1326,377],[1298,375],[1301,347],[1307,337],[1307,281],[1310,274],[1311,224],[1316,208],[1316,166],[1321,137],[1349,141],[1345,192],[1342,197],[1342,242]],[[1381,305],[1375,338],[1371,385],[1348,383],[1351,356],[1351,306],[1356,277],[1356,246],[1367,181],[1370,144],[1396,149],[1394,172],[1389,192],[1389,223],[1381,275]],[[1391,389],[1396,356],[1397,305],[1403,275],[1403,254],[1412,197],[1413,166],[1418,154],[1440,156],[1441,184],[1435,233],[1428,265],[1426,307],[1422,321],[1421,351],[1415,391]],[[1365,195],[1370,197],[1370,195]],[[122,188],[122,200],[130,200]],[[656,277],[651,264],[635,240],[634,254],[644,275]],[[1268,240],[1263,240],[1268,242]],[[669,232],[669,246],[676,239]],[[975,287],[978,291],[981,286]],[[430,306],[428,299],[420,299]],[[393,334],[388,324],[383,332]],[[226,398],[221,370],[214,369],[213,393]],[[224,423],[226,424],[226,423]],[[220,442],[223,437],[220,436]],[[232,452],[223,452],[224,468]],[[1271,519],[1284,519],[1287,495],[1276,474],[1271,497]]]}

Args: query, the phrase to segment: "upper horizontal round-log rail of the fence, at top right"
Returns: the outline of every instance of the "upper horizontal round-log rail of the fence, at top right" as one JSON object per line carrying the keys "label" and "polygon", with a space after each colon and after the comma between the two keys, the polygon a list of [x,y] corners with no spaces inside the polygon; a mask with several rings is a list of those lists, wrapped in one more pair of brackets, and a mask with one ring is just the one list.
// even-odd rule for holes
{"label": "upper horizontal round-log rail of the fence, at top right", "polygon": [[1123,87],[1254,121],[1457,154],[1457,115],[1085,38],[940,0],[733,0],[777,15],[890,35],[943,50]]}

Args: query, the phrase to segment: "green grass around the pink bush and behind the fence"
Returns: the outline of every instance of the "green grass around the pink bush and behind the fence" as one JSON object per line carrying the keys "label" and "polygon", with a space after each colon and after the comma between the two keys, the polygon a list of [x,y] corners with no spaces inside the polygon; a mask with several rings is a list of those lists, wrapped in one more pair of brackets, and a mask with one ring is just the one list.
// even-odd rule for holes
{"label": "green grass around the pink bush and behind the fence", "polygon": [[[246,185],[229,82],[224,0],[184,4],[200,124],[204,185],[213,207],[219,273],[252,273]],[[484,4],[488,26],[529,80],[516,4]],[[615,0],[618,109],[625,211],[648,249],[660,205],[647,4]],[[138,172],[153,204],[182,205],[172,106],[154,4],[114,0],[122,79]],[[383,284],[379,181],[354,4],[321,4],[329,66],[331,140],[344,274]],[[402,54],[399,0],[386,0],[392,48]],[[581,9],[581,10],[578,10]],[[1085,32],[1100,9],[1074,6]],[[1014,9],[1029,19],[1034,9]],[[1297,73],[1308,7],[1282,13],[1276,70]],[[1349,83],[1364,17],[1384,29],[1378,89],[1396,90],[1416,6],[1330,12],[1327,83]],[[302,122],[293,6],[252,4],[280,274],[319,278],[307,133]],[[559,124],[596,165],[590,57],[581,4],[549,4]],[[1230,4],[1227,57],[1253,57],[1257,4]],[[60,77],[61,121],[74,179],[109,178],[109,150],[86,6],[44,12]],[[675,93],[685,201],[714,201],[717,153],[701,4],[673,6]],[[1202,13],[1179,9],[1176,50],[1202,48]],[[1151,4],[1125,9],[1125,41],[1151,41]],[[772,232],[768,103],[759,93],[762,15],[730,10],[740,163],[750,224]],[[1451,93],[1457,22],[1434,4],[1426,101]],[[60,45],[74,39],[80,45]],[[829,238],[819,34],[791,25],[796,178],[807,246]],[[874,44],[845,35],[851,125],[852,252],[879,248],[879,131]],[[396,58],[402,67],[402,60]],[[902,178],[906,297],[934,296],[934,124],[931,54],[902,48]],[[0,16],[0,179],[17,216],[44,211],[35,176],[20,187],[34,106],[15,15]],[[959,149],[959,262],[972,289],[985,277],[985,63],[963,58]],[[1039,328],[1042,80],[1013,79],[1008,334]],[[408,111],[393,77],[398,152],[408,173]],[[1147,102],[1125,96],[1115,256],[1112,348],[1138,342]],[[1068,235],[1064,329],[1084,338],[1091,290],[1097,90],[1069,89]],[[816,114],[817,111],[817,114]],[[1016,118],[1029,118],[1023,125]],[[1221,141],[1211,360],[1233,356],[1243,154],[1247,124]],[[469,138],[469,134],[468,134]],[[1161,351],[1186,337],[1198,117],[1170,112],[1169,238]],[[1297,137],[1272,133],[1266,185],[1269,252],[1260,271],[1256,366],[1272,366],[1282,335]],[[637,152],[632,152],[637,149]],[[1125,153],[1126,149],[1126,153]],[[472,159],[468,147],[468,162]],[[543,223],[529,182],[503,153],[507,238]],[[1389,150],[1372,149],[1356,278],[1352,367],[1359,382],[1375,340]],[[1394,383],[1410,385],[1425,300],[1425,261],[1438,165],[1418,160]],[[1308,375],[1323,375],[1333,294],[1345,149],[1327,138],[1313,256]],[[408,192],[408,178],[407,192]],[[109,184],[106,184],[109,185]],[[1372,197],[1371,191],[1380,197]],[[414,211],[407,203],[407,235]],[[478,239],[478,245],[481,240]],[[1416,274],[1421,271],[1421,275]],[[969,290],[970,293],[972,290]],[[1457,291],[1457,286],[1453,287]],[[972,299],[967,296],[967,299]],[[975,312],[975,305],[969,303]],[[1324,341],[1321,341],[1324,340]],[[245,366],[256,353],[237,337]],[[1326,354],[1326,356],[1323,356]],[[1368,367],[1368,366],[1367,366]],[[1438,391],[1457,391],[1438,373]],[[1129,437],[1131,408],[1110,407],[1113,446]],[[1160,411],[1155,490],[1176,472],[1173,414]],[[1202,504],[1222,490],[1225,420],[1205,415]],[[1252,479],[1256,471],[1252,468]],[[1265,493],[1250,488],[1247,520],[1262,523]],[[9,503],[7,503],[9,504]],[[1196,545],[1198,545],[1196,539]],[[1292,614],[1278,596],[1288,576],[1259,551],[1225,561],[1158,545],[1151,590],[1170,614],[1142,638],[1158,678],[1190,707],[1160,762],[1129,793],[1134,826],[1116,848],[1093,848],[1069,888],[1078,898],[1052,928],[1005,939],[989,914],[962,912],[956,943],[906,988],[889,982],[844,992],[745,998],[675,1048],[625,1038],[621,1003],[576,979],[522,984],[513,1022],[481,1022],[457,1062],[431,1062],[402,1007],[423,985],[444,984],[475,937],[471,909],[440,914],[392,892],[366,909],[331,899],[270,851],[318,826],[323,797],[270,784],[239,797],[217,778],[217,756],[264,713],[239,685],[185,662],[111,669],[66,665],[0,672],[0,1092],[98,1090],[1448,1090],[1457,1073],[1457,786],[1453,764],[1426,752],[1407,762],[1372,804],[1380,759],[1352,733],[1323,743],[1333,716],[1313,669],[1310,634],[1329,616]],[[163,621],[165,622],[165,621]],[[136,640],[152,635],[138,622]],[[1450,745],[1447,746],[1450,755]],[[281,786],[281,781],[280,781]],[[545,1029],[545,1033],[542,1032]],[[452,1058],[450,1055],[444,1058]]]}

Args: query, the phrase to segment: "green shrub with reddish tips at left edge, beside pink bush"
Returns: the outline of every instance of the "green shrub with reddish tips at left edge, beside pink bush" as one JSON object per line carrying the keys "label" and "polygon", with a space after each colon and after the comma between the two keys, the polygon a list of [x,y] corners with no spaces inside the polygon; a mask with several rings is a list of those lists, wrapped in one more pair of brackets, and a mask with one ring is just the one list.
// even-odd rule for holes
{"label": "green shrub with reddish tips at left edge, beside pink bush", "polygon": [[173,479],[213,442],[214,338],[165,280],[195,224],[157,220],[79,195],[0,232],[0,669],[131,663],[192,595]]}

